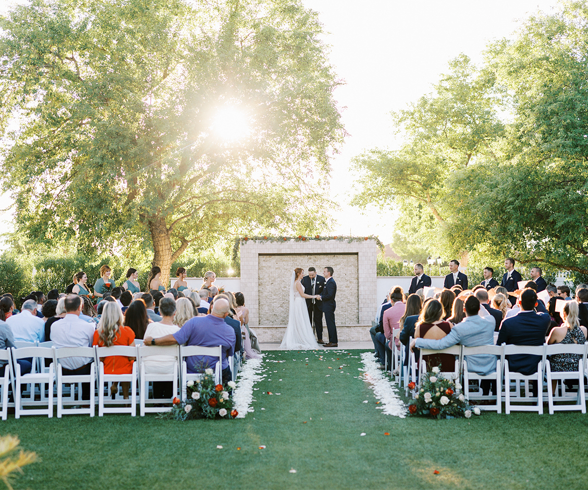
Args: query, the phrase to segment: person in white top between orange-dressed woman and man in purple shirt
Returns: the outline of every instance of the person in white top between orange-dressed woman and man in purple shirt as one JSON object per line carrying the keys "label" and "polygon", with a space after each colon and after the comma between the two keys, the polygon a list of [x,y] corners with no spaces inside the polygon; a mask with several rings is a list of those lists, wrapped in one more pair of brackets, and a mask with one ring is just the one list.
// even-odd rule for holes
{"label": "person in white top between orange-dressed woman and man in purple shirt", "polygon": [[[159,302],[159,311],[162,319],[148,325],[145,336],[158,338],[173,335],[179,331],[179,326],[174,324],[177,315],[176,302],[172,298],[162,298]],[[148,374],[171,374],[175,357],[166,355],[153,355],[145,357],[145,372]],[[182,369],[182,366],[178,366]],[[173,396],[173,381],[153,381],[153,398],[171,398]]]}

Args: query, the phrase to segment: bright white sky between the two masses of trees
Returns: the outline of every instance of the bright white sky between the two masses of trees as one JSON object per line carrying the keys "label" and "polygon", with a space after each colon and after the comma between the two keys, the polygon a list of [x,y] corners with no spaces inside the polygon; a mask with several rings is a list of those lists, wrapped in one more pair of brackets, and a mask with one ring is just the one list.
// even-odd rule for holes
{"label": "bright white sky between the two masses of trees", "polygon": [[[332,46],[330,60],[346,85],[335,97],[345,106],[343,122],[350,136],[333,160],[331,196],[341,205],[338,235],[377,235],[387,244],[392,212],[362,214],[348,205],[353,176],[350,159],[364,149],[395,148],[390,111],[430,92],[446,63],[461,52],[480,61],[488,41],[509,36],[517,19],[549,11],[554,0],[303,0],[320,13]],[[12,2],[11,2],[12,3]],[[0,13],[8,2],[0,0]],[[319,189],[317,189],[319,191]],[[320,192],[320,191],[319,191]],[[7,204],[0,196],[0,208]],[[10,216],[0,216],[9,219]],[[4,226],[2,226],[4,228]],[[1,247],[1,245],[0,245]]]}

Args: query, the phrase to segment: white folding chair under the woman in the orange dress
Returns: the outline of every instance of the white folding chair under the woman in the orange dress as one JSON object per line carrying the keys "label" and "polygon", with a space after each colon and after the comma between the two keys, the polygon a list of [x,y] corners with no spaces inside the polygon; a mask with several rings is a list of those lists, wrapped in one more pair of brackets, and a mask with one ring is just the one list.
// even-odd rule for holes
{"label": "white folding chair under the woman in the orange dress", "polygon": [[[104,363],[100,358],[109,356],[123,356],[134,357],[137,356],[137,349],[134,345],[111,345],[110,347],[96,347],[96,359],[99,363],[98,368],[98,416],[104,414],[131,414],[137,415],[137,362],[133,362],[132,371],[129,374],[105,374]],[[131,390],[129,392],[129,399],[125,400],[121,397],[110,399],[110,386],[113,382],[129,382],[131,383]],[[108,398],[108,405],[106,406],[104,392],[106,391]],[[120,391],[120,390],[119,390]],[[131,406],[125,406],[125,405]]]}

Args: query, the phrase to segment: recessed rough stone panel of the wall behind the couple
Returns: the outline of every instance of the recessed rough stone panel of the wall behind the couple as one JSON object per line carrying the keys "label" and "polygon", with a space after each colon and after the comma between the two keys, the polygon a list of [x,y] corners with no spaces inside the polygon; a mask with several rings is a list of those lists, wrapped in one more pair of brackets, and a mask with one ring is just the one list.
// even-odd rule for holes
{"label": "recessed rough stone panel of the wall behind the couple", "polygon": [[[259,325],[288,325],[289,287],[296,267],[314,266],[319,275],[330,265],[337,283],[337,325],[357,325],[358,315],[358,254],[260,254],[259,256]],[[323,319],[323,326],[326,328]]]}

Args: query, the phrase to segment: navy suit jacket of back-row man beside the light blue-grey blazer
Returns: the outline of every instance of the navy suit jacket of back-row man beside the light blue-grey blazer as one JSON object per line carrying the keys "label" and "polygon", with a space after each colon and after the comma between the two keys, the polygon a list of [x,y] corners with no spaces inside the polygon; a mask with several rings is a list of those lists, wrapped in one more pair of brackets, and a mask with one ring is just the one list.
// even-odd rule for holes
{"label": "navy suit jacket of back-row man beside the light blue-grey blazer", "polygon": [[[496,345],[543,345],[545,332],[551,324],[549,313],[535,313],[534,311],[520,311],[502,321]],[[541,356],[516,354],[507,356],[510,371],[530,375],[537,372],[537,363]]]}

